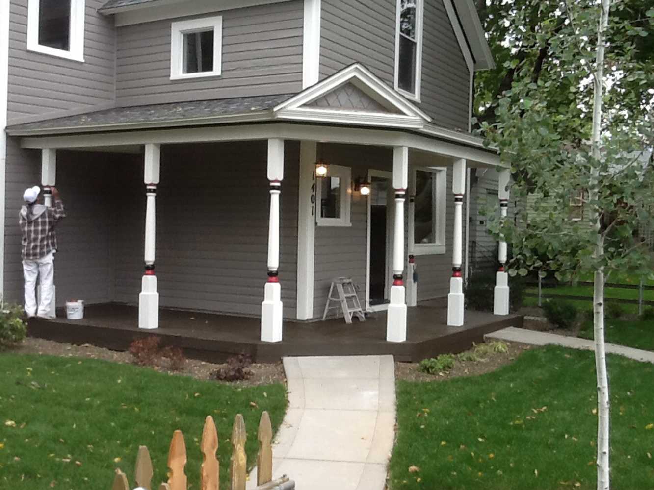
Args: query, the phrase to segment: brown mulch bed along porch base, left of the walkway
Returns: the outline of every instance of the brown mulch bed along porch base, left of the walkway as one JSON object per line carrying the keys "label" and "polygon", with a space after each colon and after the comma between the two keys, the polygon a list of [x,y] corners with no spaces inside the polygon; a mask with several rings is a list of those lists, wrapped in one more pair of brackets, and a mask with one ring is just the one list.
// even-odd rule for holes
{"label": "brown mulch bed along porch base, left of the walkway", "polygon": [[[133,364],[133,357],[128,352],[112,351],[95,347],[90,344],[75,346],[73,344],[44,340],[42,338],[27,337],[23,344],[12,348],[10,351],[25,354],[57,355],[60,357],[86,357],[88,359],[103,359],[114,363]],[[184,367],[179,371],[171,371],[167,369],[165,365],[156,366],[153,367],[153,369],[178,376],[191,376],[198,380],[209,380],[209,375],[213,371],[224,366],[224,364],[213,364],[198,361],[196,359],[186,359]],[[216,383],[242,386],[258,386],[273,383],[286,384],[286,376],[284,376],[282,363],[252,364],[250,370],[252,370],[252,376],[247,380],[235,382],[216,381]]]}

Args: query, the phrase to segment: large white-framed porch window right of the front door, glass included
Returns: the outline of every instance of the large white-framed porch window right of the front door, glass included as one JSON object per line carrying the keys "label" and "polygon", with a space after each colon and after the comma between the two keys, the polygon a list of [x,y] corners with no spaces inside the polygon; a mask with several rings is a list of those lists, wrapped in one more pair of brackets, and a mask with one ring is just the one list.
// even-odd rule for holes
{"label": "large white-framed porch window right of the front door, glass included", "polygon": [[411,172],[409,240],[413,255],[445,253],[447,170],[417,167]]}

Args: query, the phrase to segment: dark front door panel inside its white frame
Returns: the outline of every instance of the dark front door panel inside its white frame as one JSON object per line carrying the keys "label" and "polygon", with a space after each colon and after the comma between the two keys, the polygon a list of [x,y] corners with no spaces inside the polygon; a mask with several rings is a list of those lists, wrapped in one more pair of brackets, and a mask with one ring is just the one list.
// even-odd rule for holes
{"label": "dark front door panel inside its white frame", "polygon": [[370,304],[387,302],[388,179],[373,177],[370,193]]}

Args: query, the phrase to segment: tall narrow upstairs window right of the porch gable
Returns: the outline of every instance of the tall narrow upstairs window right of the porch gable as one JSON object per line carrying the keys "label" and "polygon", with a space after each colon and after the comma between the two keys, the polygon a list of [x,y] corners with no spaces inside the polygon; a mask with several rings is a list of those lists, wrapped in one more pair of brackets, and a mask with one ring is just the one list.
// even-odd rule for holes
{"label": "tall narrow upstairs window right of the porch gable", "polygon": [[424,0],[398,0],[395,34],[395,90],[420,102]]}

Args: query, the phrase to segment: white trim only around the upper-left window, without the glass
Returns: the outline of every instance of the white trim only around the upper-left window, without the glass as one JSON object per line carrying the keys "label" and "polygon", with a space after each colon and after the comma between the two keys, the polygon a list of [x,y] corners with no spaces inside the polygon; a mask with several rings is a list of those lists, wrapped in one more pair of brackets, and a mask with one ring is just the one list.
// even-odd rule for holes
{"label": "white trim only around the upper-left window, without the glass", "polygon": [[84,1],[71,0],[70,50],[60,50],[39,44],[39,0],[27,3],[27,50],[84,62]]}

